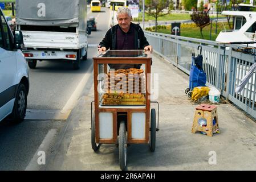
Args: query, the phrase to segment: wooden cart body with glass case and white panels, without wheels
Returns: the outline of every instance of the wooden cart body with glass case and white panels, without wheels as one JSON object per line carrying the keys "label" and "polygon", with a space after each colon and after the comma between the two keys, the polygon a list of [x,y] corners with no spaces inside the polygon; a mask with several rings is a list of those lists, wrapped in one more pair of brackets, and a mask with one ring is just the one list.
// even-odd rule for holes
{"label": "wooden cart body with glass case and white panels, without wheels", "polygon": [[147,143],[151,55],[143,50],[107,51],[94,57],[97,143],[117,143],[120,119],[128,143]]}

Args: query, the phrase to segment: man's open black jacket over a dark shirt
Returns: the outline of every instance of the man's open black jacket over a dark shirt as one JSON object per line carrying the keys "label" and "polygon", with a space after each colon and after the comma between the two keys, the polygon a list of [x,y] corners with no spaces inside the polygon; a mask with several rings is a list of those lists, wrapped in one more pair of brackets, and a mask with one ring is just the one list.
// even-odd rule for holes
{"label": "man's open black jacket over a dark shirt", "polygon": [[[107,31],[107,34],[100,42],[100,47],[110,48],[111,50],[116,49],[116,32],[119,24],[116,24]],[[144,32],[139,24],[131,23],[130,28],[133,27],[135,30],[135,49],[144,49],[145,46],[149,46],[147,38],[145,38]]]}

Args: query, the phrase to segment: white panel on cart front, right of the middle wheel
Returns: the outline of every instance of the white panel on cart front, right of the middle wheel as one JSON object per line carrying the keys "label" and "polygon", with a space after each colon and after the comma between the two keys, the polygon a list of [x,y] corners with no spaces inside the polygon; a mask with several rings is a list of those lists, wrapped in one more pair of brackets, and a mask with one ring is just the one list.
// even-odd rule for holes
{"label": "white panel on cart front, right of the middle wheel", "polygon": [[145,113],[132,113],[132,139],[145,139]]}

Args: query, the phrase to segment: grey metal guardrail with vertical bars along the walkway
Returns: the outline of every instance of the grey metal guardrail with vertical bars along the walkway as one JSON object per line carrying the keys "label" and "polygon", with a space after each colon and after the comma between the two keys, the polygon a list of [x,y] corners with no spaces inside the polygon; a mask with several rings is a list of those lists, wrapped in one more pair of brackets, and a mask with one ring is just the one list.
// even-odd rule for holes
{"label": "grey metal guardrail with vertical bars along the walkway", "polygon": [[226,46],[215,41],[144,32],[154,52],[188,75],[192,53],[197,55],[197,47],[201,45],[203,69],[207,75],[206,84],[216,87],[226,100],[256,119],[256,73],[253,73],[241,93],[235,92],[250,66],[255,63],[255,56],[235,51],[237,46]]}

